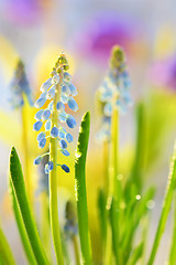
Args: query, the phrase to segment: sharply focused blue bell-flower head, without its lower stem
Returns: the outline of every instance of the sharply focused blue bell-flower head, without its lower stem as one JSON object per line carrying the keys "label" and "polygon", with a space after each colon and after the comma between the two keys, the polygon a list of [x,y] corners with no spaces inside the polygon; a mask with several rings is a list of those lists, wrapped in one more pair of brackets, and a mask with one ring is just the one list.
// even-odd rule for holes
{"label": "sharply focused blue bell-flower head, without its lower stem", "polygon": [[[44,128],[44,131],[37,135],[38,148],[45,148],[47,146],[46,139],[48,138],[50,142],[58,145],[57,149],[65,157],[69,156],[67,147],[69,142],[73,142],[74,138],[61,123],[64,123],[72,129],[76,127],[75,117],[67,114],[65,105],[68,105],[74,113],[78,110],[78,105],[74,98],[77,95],[77,89],[73,84],[70,74],[67,72],[68,68],[68,61],[65,54],[62,53],[50,78],[40,88],[41,95],[34,104],[40,109],[35,114],[36,123],[33,125],[35,131]],[[37,157],[34,160],[34,165],[40,165],[42,157]],[[57,162],[50,155],[50,161],[45,165],[45,173],[48,174],[54,170],[55,166],[61,166],[65,172],[69,172],[69,168],[65,163],[59,165]]]}

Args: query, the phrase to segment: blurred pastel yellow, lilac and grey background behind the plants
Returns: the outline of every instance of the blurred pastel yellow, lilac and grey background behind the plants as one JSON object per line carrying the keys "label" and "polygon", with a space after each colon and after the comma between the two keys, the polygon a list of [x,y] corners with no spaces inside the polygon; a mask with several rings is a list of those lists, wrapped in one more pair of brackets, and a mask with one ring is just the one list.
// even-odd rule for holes
{"label": "blurred pastel yellow, lilac and grey background behind the plants", "polygon": [[[160,3],[152,0],[0,0],[0,219],[19,265],[25,264],[25,261],[8,197],[11,146],[16,146],[23,156],[21,116],[9,102],[9,87],[18,59],[25,65],[35,99],[59,53],[65,52],[68,56],[74,84],[78,89],[78,124],[87,109],[91,112],[87,168],[88,202],[91,208],[102,182],[101,147],[95,140],[99,126],[95,93],[107,72],[111,47],[119,44],[124,49],[132,80],[133,106],[120,119],[121,171],[127,174],[130,172],[135,145],[135,105],[144,102],[148,125],[148,137],[144,142],[147,149],[144,183],[158,188],[150,227],[150,250],[176,136],[175,8],[174,0],[161,0]],[[31,170],[36,171],[32,163],[38,151],[36,135],[32,131],[31,117],[34,112],[28,116],[28,130]],[[77,135],[78,129],[75,139]],[[70,160],[74,160],[74,148]],[[37,177],[34,184],[37,189]],[[61,178],[59,186],[74,195],[73,174]],[[35,200],[37,208],[37,194]],[[96,239],[98,223],[92,221],[96,220],[96,210],[91,209],[90,227]],[[172,220],[168,221],[155,264],[164,264],[169,247],[170,224]],[[92,244],[95,239],[92,236]],[[94,247],[96,250],[98,245],[94,244]],[[99,259],[98,256],[96,258]]]}

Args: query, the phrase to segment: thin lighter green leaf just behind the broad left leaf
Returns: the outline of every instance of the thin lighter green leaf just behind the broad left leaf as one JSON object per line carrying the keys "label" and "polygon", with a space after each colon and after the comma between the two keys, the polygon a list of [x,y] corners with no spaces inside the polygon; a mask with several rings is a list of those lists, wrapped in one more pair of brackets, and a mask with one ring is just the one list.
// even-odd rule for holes
{"label": "thin lighter green leaf just behind the broad left leaf", "polygon": [[29,242],[29,237],[28,237],[24,224],[23,224],[23,220],[22,220],[19,206],[18,206],[16,198],[15,198],[11,181],[10,181],[9,186],[10,186],[10,193],[11,193],[11,200],[12,200],[12,206],[13,206],[13,212],[14,212],[14,216],[15,216],[15,222],[16,222],[16,225],[18,225],[18,229],[20,232],[22,244],[23,244],[26,257],[29,259],[29,264],[35,265],[36,261],[35,261],[33,251],[32,251],[30,242]]}

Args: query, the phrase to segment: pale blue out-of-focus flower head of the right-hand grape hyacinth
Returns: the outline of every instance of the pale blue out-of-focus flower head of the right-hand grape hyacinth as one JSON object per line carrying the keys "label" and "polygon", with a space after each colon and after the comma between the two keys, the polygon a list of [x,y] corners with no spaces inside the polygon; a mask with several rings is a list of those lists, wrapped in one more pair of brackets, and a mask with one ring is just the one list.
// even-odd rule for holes
{"label": "pale blue out-of-focus flower head of the right-hand grape hyacinth", "polygon": [[112,49],[110,67],[97,92],[97,99],[101,112],[101,129],[97,135],[98,140],[110,138],[111,116],[114,108],[125,113],[132,104],[131,81],[127,70],[124,52],[121,47]]}

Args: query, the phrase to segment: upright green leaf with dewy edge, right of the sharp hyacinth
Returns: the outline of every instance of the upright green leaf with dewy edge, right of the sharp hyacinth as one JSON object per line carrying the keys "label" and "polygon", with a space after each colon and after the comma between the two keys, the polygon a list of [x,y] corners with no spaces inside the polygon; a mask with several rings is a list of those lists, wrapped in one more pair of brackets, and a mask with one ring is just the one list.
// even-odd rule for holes
{"label": "upright green leaf with dewy edge, right of the sharp hyacinth", "polygon": [[78,227],[82,264],[91,264],[91,251],[88,229],[88,210],[86,195],[86,157],[89,140],[90,114],[85,114],[79,128],[79,138],[75,158],[75,189],[78,213]]}

